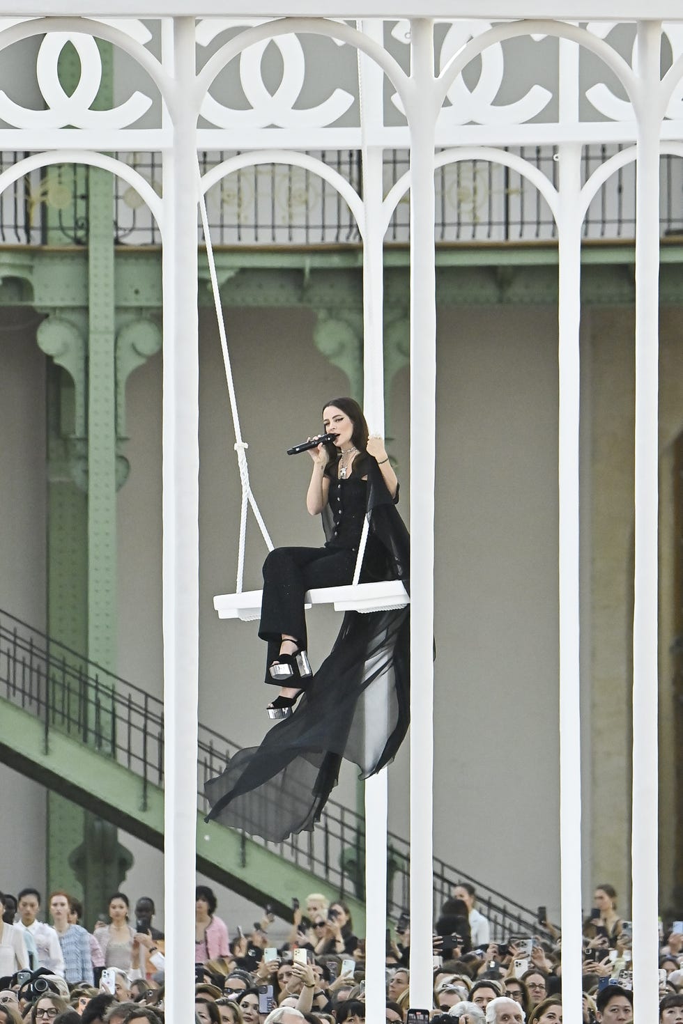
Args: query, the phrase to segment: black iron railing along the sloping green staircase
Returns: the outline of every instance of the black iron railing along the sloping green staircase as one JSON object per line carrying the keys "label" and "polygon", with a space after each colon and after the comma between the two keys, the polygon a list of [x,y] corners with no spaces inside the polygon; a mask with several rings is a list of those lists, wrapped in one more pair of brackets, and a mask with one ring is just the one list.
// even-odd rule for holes
{"label": "black iron railing along the sloping green staircase", "polygon": [[[146,801],[150,785],[164,784],[164,709],[157,697],[108,672],[71,648],[0,610],[0,696],[43,723],[46,748],[56,729],[114,758],[135,773]],[[199,726],[198,808],[208,810],[204,781],[218,774],[240,748],[205,725]],[[246,840],[243,849],[246,851]],[[342,897],[362,897],[362,818],[330,800],[313,833],[265,844],[291,863],[335,886]],[[410,844],[389,834],[389,914],[409,906]],[[477,890],[494,935],[538,931],[533,913],[460,869],[434,859],[434,911],[459,882]]]}

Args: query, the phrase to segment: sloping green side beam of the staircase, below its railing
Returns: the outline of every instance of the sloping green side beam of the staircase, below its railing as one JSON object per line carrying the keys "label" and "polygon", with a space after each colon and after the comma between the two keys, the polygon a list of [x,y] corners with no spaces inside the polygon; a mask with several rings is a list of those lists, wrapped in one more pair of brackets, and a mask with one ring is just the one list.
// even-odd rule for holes
{"label": "sloping green side beam of the staircase, below its railing", "polygon": [[[0,697],[0,761],[78,807],[97,814],[157,850],[164,849],[163,791],[111,758],[35,715]],[[72,836],[72,845],[73,840]],[[241,833],[197,815],[197,867],[203,874],[259,906],[271,903],[289,916],[293,896],[323,892],[332,902],[338,890],[324,878],[292,863]],[[364,934],[366,908],[345,897]]]}

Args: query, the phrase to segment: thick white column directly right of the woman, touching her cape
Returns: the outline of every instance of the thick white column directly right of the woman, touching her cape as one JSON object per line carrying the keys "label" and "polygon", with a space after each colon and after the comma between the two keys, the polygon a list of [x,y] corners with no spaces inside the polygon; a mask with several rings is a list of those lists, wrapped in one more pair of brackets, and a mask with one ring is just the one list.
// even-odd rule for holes
{"label": "thick white column directly right of the woman, touching her cape", "polygon": [[427,18],[411,22],[411,1004],[431,1009],[436,90]]}

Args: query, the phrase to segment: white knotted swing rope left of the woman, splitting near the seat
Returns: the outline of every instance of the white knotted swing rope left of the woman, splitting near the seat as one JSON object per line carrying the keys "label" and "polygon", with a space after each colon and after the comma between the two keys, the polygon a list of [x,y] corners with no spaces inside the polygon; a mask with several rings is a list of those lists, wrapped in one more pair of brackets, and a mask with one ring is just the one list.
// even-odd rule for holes
{"label": "white knotted swing rope left of the woman, splitting near the seat", "polygon": [[202,229],[204,231],[204,241],[206,244],[206,254],[209,263],[209,275],[211,278],[211,290],[213,292],[213,304],[216,310],[216,319],[218,322],[218,334],[220,335],[220,348],[223,353],[223,367],[225,368],[225,381],[227,383],[227,393],[230,399],[230,413],[232,414],[232,428],[234,430],[234,451],[238,454],[238,467],[240,469],[240,480],[242,481],[242,508],[240,511],[240,547],[238,551],[238,582],[237,582],[237,592],[242,593],[244,585],[244,569],[245,569],[245,548],[247,544],[247,511],[249,505],[252,507],[252,511],[259,525],[263,540],[265,541],[268,551],[272,551],[273,544],[270,540],[270,535],[266,528],[265,522],[263,521],[263,516],[256,504],[256,499],[251,489],[251,484],[249,482],[249,467],[247,465],[247,449],[249,445],[242,437],[242,428],[240,426],[240,414],[238,413],[238,399],[234,392],[234,381],[232,379],[232,368],[230,366],[230,355],[227,350],[227,335],[225,332],[225,321],[223,319],[223,308],[220,302],[220,289],[218,288],[218,274],[216,273],[216,261],[213,256],[213,245],[211,243],[211,231],[209,229],[209,216],[207,214],[206,200],[204,198],[204,189],[202,187],[202,172],[200,170],[199,161],[197,163],[197,173],[199,182],[199,204],[200,212],[202,215]]}

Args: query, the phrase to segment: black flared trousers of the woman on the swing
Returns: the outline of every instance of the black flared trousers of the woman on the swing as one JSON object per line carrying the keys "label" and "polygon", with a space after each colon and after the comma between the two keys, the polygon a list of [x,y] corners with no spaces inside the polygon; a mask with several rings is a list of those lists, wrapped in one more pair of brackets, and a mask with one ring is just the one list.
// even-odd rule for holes
{"label": "black flared trousers of the woman on the swing", "polygon": [[[267,664],[280,653],[283,634],[307,647],[304,595],[315,587],[353,581],[356,552],[350,548],[275,548],[263,563],[263,598],[258,635],[268,642]],[[275,683],[266,673],[266,682]],[[276,684],[280,685],[280,684]]]}

